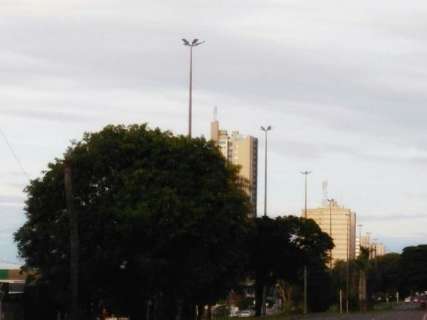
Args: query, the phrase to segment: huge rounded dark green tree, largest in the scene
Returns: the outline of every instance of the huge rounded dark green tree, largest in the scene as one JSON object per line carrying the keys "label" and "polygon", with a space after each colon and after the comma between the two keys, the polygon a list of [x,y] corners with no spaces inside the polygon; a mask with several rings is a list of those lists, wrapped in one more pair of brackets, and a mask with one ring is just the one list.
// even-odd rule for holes
{"label": "huge rounded dark green tree, largest in the scene", "polygon": [[[192,319],[214,303],[244,265],[249,201],[237,168],[213,143],[108,126],[85,134],[65,158],[80,225],[80,303],[142,319]],[[69,292],[69,221],[64,159],[26,191],[27,222],[15,235],[26,267],[58,305]],[[149,306],[149,307],[147,307]],[[149,308],[149,310],[147,310]]]}

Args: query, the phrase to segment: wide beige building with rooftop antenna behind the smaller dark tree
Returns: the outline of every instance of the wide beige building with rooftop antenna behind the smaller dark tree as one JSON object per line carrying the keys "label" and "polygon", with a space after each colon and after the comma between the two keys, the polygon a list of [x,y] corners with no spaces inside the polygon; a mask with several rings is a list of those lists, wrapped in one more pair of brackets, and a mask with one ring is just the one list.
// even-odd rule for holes
{"label": "wide beige building with rooftop antenna behind the smaller dark tree", "polygon": [[[303,212],[304,215],[304,212]],[[313,219],[323,232],[334,241],[332,262],[347,261],[356,257],[356,214],[350,209],[339,206],[336,201],[321,208],[307,209],[307,218]]]}

